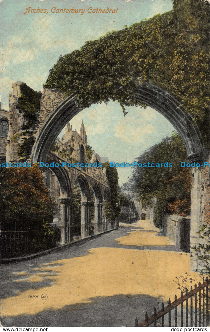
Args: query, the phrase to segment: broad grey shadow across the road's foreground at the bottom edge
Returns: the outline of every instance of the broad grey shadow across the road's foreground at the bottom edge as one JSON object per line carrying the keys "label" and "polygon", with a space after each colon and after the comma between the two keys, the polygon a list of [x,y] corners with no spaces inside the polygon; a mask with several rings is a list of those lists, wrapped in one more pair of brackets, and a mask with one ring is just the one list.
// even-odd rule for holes
{"label": "broad grey shadow across the road's foreground at the bottom edge", "polygon": [[[129,280],[128,280],[129,282]],[[3,326],[134,326],[148,308],[158,308],[160,300],[149,295],[114,295],[89,299],[90,303],[66,305],[37,315],[2,317]],[[152,314],[148,312],[148,314]]]}

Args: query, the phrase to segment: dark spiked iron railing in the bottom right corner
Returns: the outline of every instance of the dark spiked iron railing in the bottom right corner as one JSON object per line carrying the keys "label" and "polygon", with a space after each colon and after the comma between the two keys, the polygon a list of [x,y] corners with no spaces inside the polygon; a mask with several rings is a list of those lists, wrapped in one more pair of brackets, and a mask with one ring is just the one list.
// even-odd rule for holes
{"label": "dark spiked iron railing in the bottom right corner", "polygon": [[[178,299],[175,295],[172,303],[169,299],[167,306],[164,306],[164,302],[162,302],[161,310],[157,311],[155,307],[152,316],[148,317],[146,312],[145,320],[140,324],[136,318],[135,326],[150,326],[152,324],[157,326],[158,320],[160,321],[159,326],[209,326],[210,280],[207,277],[206,281],[203,279],[202,284],[199,282],[198,287],[196,284],[194,287],[192,289],[191,286],[189,292],[185,289],[185,294],[181,291],[181,296]],[[171,317],[171,312],[174,312],[173,317]],[[166,314],[168,314],[167,320],[165,319]]]}

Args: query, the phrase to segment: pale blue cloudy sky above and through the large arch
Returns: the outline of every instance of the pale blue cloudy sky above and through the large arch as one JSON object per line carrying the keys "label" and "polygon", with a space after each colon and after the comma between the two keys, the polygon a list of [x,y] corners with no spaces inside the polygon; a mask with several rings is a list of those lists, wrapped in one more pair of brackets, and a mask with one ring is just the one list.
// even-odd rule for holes
{"label": "pale blue cloudy sky above and through the large arch", "polygon": [[[26,8],[47,9],[48,14],[25,14]],[[51,8],[85,9],[83,15],[51,13]],[[87,9],[107,7],[117,14],[88,14]],[[40,91],[49,69],[64,55],[85,41],[97,39],[111,30],[120,30],[145,18],[172,9],[170,0],[0,0],[0,90],[2,107],[8,109],[11,84],[23,81]],[[88,144],[110,161],[132,162],[147,147],[170,134],[172,125],[149,107],[129,107],[123,117],[118,103],[92,105],[72,119],[79,131],[81,120]],[[130,169],[118,169],[122,184]]]}

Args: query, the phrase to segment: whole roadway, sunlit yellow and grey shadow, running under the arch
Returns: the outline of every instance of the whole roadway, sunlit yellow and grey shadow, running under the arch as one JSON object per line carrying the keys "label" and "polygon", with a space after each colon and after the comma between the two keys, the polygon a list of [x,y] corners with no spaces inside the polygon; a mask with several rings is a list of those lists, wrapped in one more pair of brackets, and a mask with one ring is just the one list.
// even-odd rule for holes
{"label": "whole roadway, sunlit yellow and grey shadow, running under the arch", "polygon": [[[1,324],[134,326],[136,316],[143,320],[174,294],[173,279],[189,270],[189,255],[158,235],[149,220],[121,224],[74,247],[2,265]],[[173,271],[174,260],[180,262]]]}

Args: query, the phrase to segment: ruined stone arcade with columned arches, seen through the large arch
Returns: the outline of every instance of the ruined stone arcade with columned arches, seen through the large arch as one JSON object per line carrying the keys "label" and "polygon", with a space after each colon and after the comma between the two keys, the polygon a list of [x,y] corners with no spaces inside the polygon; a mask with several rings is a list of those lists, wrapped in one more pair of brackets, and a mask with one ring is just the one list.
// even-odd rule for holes
{"label": "ruined stone arcade with columned arches, seen through the large arch", "polygon": [[[87,151],[87,135],[84,124],[82,122],[80,134],[74,130],[68,123],[65,127],[65,134],[61,140],[56,138],[51,151],[48,155],[47,163],[50,165],[68,163],[103,163],[101,158],[93,150],[91,158],[88,158]],[[106,178],[106,168],[95,167],[50,167],[45,172],[45,182],[51,196],[55,202],[60,205],[60,226],[61,226],[61,243],[69,242],[73,236],[74,216],[72,214],[72,196],[73,188],[79,185],[81,191],[81,237],[90,235],[90,204],[91,192],[94,196],[94,234],[108,229],[108,221],[103,215],[103,197],[106,188],[108,188]],[[55,178],[56,177],[56,178]],[[57,179],[57,181],[56,181]],[[56,185],[59,183],[59,186]]]}

